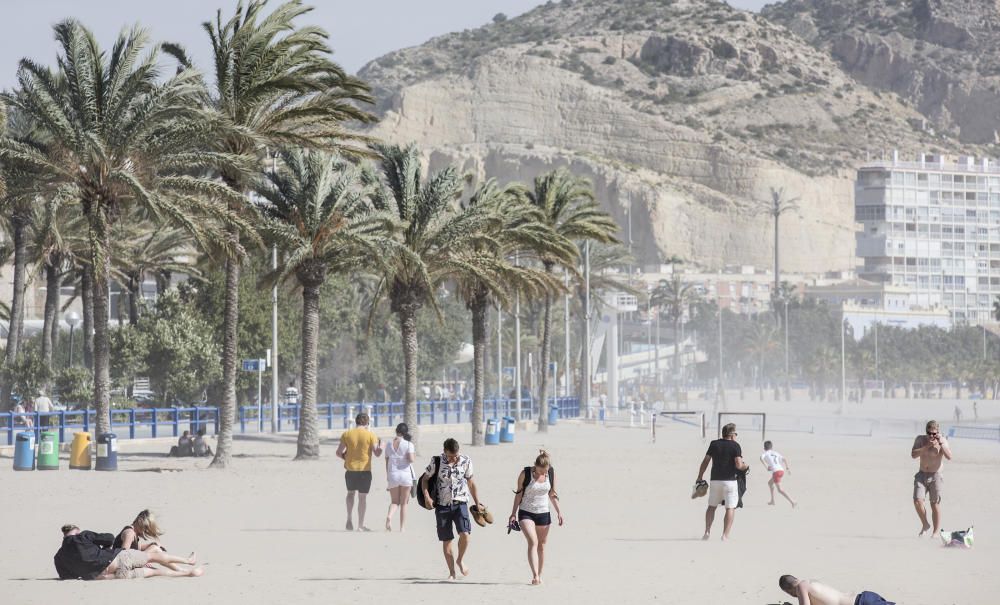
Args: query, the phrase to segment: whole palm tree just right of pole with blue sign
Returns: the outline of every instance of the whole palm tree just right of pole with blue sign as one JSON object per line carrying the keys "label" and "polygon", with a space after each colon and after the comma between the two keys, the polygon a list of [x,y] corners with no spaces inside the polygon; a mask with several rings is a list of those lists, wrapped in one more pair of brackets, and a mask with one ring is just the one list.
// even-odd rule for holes
{"label": "whole palm tree just right of pole with blue sign", "polygon": [[281,154],[284,170],[255,189],[266,203],[267,239],[284,251],[274,279],[292,275],[302,288],[302,407],[296,460],[319,457],[316,350],[319,293],[331,273],[365,270],[388,248],[393,217],[374,209],[361,171],[338,156],[313,151]]}

